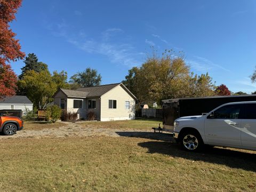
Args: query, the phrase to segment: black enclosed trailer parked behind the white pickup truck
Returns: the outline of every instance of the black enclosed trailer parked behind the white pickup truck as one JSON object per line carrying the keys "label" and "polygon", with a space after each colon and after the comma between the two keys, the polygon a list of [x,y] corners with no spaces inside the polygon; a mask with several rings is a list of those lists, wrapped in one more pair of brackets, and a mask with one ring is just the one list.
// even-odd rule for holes
{"label": "black enclosed trailer parked behind the white pickup truck", "polygon": [[[174,120],[179,117],[203,115],[222,104],[239,101],[256,101],[256,94],[163,100],[163,129],[161,131],[173,132]],[[159,127],[157,128],[159,130]]]}

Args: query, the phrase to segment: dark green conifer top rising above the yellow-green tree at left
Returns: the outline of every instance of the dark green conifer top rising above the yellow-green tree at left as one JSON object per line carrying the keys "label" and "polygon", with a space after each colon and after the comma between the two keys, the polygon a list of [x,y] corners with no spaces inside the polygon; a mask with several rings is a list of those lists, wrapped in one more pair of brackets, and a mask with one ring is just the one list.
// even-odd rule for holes
{"label": "dark green conifer top rising above the yellow-green tree at left", "polygon": [[48,66],[43,62],[38,62],[38,58],[34,53],[29,53],[26,57],[25,66],[21,68],[21,74],[19,75],[19,79],[22,79],[24,74],[29,70],[34,70],[39,73],[43,70],[48,70]]}

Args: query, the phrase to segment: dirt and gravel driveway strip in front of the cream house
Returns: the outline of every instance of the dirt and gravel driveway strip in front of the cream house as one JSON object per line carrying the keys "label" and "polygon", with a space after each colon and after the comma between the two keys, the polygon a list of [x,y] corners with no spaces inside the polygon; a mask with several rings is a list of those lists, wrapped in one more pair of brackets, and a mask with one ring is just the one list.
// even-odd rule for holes
{"label": "dirt and gravel driveway strip in front of the cream house", "polygon": [[[127,121],[124,125],[118,125],[118,122],[57,122],[48,124],[46,122],[27,122],[25,129],[18,131],[12,136],[2,136],[0,139],[8,138],[65,138],[65,137],[138,137],[155,140],[172,141],[171,134],[154,133],[151,127],[157,126],[159,122],[149,121],[143,127],[139,125],[140,121]],[[27,127],[27,129],[26,129]]]}

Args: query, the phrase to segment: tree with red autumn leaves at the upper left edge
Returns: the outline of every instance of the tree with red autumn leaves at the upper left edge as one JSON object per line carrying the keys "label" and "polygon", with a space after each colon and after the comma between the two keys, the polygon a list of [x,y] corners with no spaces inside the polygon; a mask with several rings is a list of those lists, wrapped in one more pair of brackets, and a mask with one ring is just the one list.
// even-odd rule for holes
{"label": "tree with red autumn leaves at the upper left edge", "polygon": [[21,6],[21,0],[0,1],[0,98],[14,95],[17,76],[11,68],[10,62],[23,59],[19,40],[10,29],[9,22],[15,19],[15,13]]}

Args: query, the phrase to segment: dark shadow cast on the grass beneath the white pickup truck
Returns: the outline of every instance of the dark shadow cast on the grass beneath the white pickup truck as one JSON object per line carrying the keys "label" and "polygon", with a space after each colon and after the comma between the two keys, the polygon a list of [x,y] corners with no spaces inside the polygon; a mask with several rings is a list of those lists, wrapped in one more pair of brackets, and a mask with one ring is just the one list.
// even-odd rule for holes
{"label": "dark shadow cast on the grass beneath the white pickup truck", "polygon": [[226,165],[231,168],[256,172],[256,154],[245,153],[243,151],[214,147],[205,149],[201,153],[193,153],[179,149],[177,144],[174,145],[173,143],[163,141],[141,142],[138,145],[147,148],[150,154],[170,155],[172,157]]}

